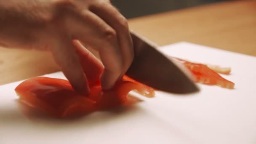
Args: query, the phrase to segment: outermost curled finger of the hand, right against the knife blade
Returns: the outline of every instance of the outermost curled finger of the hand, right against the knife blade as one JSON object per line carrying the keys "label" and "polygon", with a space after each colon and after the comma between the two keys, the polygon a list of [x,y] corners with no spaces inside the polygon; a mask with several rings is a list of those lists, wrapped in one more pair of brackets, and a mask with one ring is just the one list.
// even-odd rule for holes
{"label": "outermost curled finger of the hand, right against the knife blade", "polygon": [[115,32],[117,33],[118,44],[123,57],[123,68],[120,75],[122,77],[130,67],[134,58],[133,43],[128,23],[108,0],[95,3],[94,5],[91,5],[89,9],[115,29]]}

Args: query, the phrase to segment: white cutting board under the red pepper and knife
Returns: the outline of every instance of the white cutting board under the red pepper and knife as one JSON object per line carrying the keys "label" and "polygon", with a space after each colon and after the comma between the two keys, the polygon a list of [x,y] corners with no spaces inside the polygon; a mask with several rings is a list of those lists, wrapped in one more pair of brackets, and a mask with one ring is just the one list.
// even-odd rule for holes
{"label": "white cutting board under the red pepper and knife", "polygon": [[[256,144],[256,57],[191,43],[162,50],[232,67],[224,77],[235,89],[197,84],[201,91],[193,95],[156,92],[117,112],[60,121],[24,116],[14,101],[20,82],[10,83],[0,86],[0,144]],[[64,78],[60,72],[46,76]]]}

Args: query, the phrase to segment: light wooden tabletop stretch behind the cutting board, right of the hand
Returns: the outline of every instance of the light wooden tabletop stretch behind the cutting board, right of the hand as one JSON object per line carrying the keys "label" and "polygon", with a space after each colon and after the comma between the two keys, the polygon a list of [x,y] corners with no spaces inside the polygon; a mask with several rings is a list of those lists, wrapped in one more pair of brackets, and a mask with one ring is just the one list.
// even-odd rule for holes
{"label": "light wooden tabletop stretch behind the cutting board, right of the hand", "polygon": [[180,41],[256,56],[256,0],[231,1],[131,19],[159,45]]}

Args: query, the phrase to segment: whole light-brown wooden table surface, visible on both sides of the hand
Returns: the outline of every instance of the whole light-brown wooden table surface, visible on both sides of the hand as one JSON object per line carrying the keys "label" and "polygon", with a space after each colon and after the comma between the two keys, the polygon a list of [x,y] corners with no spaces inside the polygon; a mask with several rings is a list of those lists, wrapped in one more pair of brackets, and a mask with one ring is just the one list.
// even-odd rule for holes
{"label": "whole light-brown wooden table surface, visible on both sides of the hand", "polygon": [[[256,56],[256,1],[229,1],[129,19],[159,44],[180,41]],[[48,52],[0,48],[0,85],[59,71]]]}

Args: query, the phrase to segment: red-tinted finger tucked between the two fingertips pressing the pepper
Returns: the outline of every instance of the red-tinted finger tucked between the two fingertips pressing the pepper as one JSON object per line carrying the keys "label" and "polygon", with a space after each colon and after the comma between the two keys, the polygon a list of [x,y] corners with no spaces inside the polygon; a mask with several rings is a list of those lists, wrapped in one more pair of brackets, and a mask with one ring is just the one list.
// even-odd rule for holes
{"label": "red-tinted finger tucked between the two fingertips pressing the pepper", "polygon": [[85,72],[88,81],[95,82],[99,80],[104,68],[101,62],[78,40],[73,40],[73,44],[76,47],[77,54],[80,58],[80,64],[83,67],[83,71]]}

